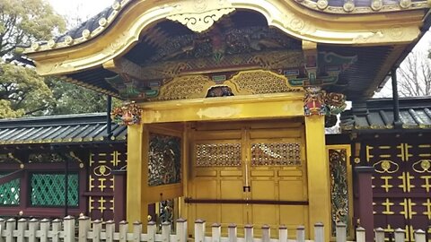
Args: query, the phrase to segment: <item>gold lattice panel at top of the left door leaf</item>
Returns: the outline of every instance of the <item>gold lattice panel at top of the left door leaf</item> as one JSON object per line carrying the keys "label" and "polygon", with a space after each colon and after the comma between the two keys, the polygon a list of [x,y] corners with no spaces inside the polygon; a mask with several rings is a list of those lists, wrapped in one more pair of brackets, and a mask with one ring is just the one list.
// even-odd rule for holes
{"label": "gold lattice panel at top of the left door leaf", "polygon": [[241,166],[241,143],[199,143],[195,151],[197,167]]}

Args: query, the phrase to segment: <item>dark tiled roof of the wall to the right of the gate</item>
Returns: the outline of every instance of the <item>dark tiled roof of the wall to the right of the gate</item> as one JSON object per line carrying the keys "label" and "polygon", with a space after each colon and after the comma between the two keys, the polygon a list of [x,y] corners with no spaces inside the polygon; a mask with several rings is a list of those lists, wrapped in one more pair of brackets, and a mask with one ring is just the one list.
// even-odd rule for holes
{"label": "dark tiled roof of the wall to the right of the gate", "polygon": [[[370,99],[367,111],[356,114],[347,110],[341,114],[340,127],[343,133],[370,130],[399,131],[393,125],[392,99]],[[427,129],[431,131],[431,97],[400,99],[400,121],[402,129]]]}

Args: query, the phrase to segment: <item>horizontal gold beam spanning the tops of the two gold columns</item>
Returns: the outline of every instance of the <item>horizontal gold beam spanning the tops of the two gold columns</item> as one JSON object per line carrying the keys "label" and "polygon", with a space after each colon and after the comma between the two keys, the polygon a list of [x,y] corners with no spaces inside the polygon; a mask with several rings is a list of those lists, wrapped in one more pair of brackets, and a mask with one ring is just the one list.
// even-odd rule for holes
{"label": "horizontal gold beam spanning the tops of the two gold columns", "polygon": [[303,91],[141,103],[144,124],[303,117]]}

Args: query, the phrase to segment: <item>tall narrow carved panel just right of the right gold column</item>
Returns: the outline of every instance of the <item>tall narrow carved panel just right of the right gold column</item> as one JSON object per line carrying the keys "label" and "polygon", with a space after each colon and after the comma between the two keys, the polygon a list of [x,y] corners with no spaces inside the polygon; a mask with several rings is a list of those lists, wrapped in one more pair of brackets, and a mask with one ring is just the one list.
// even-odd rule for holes
{"label": "tall narrow carved panel just right of the right gold column", "polygon": [[347,151],[333,149],[329,151],[330,157],[330,205],[331,205],[331,232],[335,236],[337,223],[349,223],[348,211],[348,184],[347,184]]}

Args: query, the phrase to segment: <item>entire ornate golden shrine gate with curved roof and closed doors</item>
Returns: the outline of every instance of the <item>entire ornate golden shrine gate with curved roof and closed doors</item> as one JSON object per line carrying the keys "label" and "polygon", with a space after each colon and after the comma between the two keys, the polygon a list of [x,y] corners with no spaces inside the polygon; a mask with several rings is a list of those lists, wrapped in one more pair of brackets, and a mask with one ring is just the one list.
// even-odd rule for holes
{"label": "entire ornate golden shrine gate with curved roof and closed doors", "polygon": [[[352,217],[346,195],[331,209],[348,179],[330,182],[325,124],[346,99],[364,107],[431,24],[429,0],[365,2],[124,0],[25,53],[40,74],[135,102],[112,112],[128,125],[127,220],[178,198],[189,220],[305,224],[312,237]],[[348,149],[330,154],[348,173]]]}

